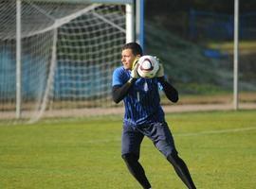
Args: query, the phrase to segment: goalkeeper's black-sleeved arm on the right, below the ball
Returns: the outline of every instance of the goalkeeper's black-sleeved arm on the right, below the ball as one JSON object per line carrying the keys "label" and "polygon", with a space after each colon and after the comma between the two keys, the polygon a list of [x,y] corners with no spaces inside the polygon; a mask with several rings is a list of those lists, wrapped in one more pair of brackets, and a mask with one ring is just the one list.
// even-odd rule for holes
{"label": "goalkeeper's black-sleeved arm on the right, below the ball", "polygon": [[163,87],[163,91],[166,94],[167,98],[172,102],[178,101],[178,92],[177,90],[165,79],[165,77],[157,77],[157,80]]}

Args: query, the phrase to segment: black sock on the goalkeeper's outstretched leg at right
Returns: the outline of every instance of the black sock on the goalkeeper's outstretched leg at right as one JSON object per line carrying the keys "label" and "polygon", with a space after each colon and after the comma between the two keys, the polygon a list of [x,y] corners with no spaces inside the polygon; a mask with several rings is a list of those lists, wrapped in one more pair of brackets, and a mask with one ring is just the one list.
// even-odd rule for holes
{"label": "black sock on the goalkeeper's outstretched leg at right", "polygon": [[180,159],[177,153],[172,153],[167,157],[167,160],[174,165],[174,170],[179,178],[188,186],[189,189],[195,189],[192,182],[192,177],[189,169],[182,159]]}

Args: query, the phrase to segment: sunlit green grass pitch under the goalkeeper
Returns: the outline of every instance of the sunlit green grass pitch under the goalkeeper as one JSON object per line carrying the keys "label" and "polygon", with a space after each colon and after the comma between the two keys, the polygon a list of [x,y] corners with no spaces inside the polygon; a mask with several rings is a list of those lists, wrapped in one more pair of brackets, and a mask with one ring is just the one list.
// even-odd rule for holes
{"label": "sunlit green grass pitch under the goalkeeper", "polygon": [[[256,111],[166,116],[197,188],[256,186]],[[0,127],[0,188],[140,188],[120,158],[121,117]],[[140,162],[154,189],[186,188],[145,139]]]}

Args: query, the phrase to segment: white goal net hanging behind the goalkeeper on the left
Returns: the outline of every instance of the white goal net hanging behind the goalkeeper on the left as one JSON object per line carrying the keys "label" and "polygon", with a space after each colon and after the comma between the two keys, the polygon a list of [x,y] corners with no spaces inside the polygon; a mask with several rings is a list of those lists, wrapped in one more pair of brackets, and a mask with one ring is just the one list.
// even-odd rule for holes
{"label": "white goal net hanging behind the goalkeeper on the left", "polygon": [[125,5],[17,2],[0,1],[0,118],[36,121],[111,107]]}

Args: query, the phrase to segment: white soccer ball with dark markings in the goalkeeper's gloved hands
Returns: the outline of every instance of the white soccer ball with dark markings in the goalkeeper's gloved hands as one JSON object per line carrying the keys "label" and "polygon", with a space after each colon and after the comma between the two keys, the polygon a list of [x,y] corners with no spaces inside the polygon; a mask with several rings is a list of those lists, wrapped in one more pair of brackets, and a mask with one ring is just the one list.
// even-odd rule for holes
{"label": "white soccer ball with dark markings in the goalkeeper's gloved hands", "polygon": [[137,74],[144,78],[155,77],[156,72],[159,69],[159,62],[155,57],[145,55],[139,58],[137,67]]}

